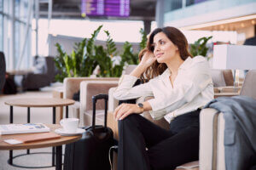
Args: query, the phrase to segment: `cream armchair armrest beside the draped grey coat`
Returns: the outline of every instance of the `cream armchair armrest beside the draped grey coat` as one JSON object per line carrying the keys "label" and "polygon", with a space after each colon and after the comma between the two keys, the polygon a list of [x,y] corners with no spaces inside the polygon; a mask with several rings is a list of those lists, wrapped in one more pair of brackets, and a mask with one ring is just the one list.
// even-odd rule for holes
{"label": "cream armchair armrest beside the draped grey coat", "polygon": [[201,111],[199,157],[200,169],[225,169],[224,117],[215,109]]}

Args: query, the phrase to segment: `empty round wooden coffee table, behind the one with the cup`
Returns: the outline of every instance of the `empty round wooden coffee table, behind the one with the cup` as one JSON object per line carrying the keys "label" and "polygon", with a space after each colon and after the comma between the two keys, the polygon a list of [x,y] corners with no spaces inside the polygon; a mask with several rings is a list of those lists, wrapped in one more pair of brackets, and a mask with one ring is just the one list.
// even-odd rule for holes
{"label": "empty round wooden coffee table, behind the one with the cup", "polygon": [[[27,122],[30,122],[30,108],[31,107],[52,107],[53,108],[53,124],[55,124],[56,107],[66,106],[66,117],[68,117],[68,105],[73,105],[75,101],[73,99],[56,99],[56,98],[22,98],[22,99],[10,99],[4,102],[5,105],[10,106],[9,122],[14,122],[14,106],[27,107]],[[26,152],[30,153],[29,150]],[[52,166],[55,166],[55,148],[52,149]],[[9,150],[9,164],[12,165],[13,150]]]}

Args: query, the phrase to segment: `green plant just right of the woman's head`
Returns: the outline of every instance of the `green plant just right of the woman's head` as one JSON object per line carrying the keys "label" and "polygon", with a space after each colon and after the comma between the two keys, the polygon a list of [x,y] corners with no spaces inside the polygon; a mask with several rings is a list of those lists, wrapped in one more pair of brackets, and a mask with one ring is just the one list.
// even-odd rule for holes
{"label": "green plant just right of the woman's head", "polygon": [[194,44],[190,44],[190,54],[193,56],[202,55],[204,57],[207,56],[207,41],[211,39],[211,37],[201,37]]}

